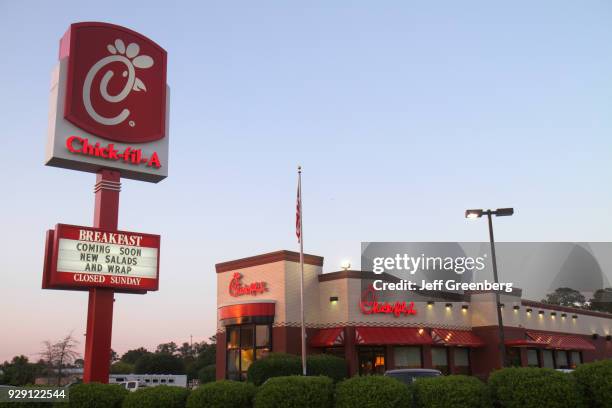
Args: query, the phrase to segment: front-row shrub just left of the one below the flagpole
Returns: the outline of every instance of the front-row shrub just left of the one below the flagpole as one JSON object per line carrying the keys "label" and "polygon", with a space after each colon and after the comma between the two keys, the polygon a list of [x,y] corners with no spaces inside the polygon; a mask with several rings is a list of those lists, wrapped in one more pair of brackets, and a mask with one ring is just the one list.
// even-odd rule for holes
{"label": "front-row shrub just left of the one below the flagpole", "polygon": [[238,381],[217,381],[198,387],[187,398],[187,408],[248,408],[255,386]]}

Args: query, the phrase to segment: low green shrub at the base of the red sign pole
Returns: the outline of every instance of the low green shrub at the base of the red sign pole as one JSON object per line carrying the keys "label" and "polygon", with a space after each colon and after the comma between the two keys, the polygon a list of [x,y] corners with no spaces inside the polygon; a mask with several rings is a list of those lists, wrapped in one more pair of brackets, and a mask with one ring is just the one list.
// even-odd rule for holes
{"label": "low green shrub at the base of the red sign pole", "polygon": [[71,408],[119,408],[129,392],[117,384],[77,384],[70,387]]}

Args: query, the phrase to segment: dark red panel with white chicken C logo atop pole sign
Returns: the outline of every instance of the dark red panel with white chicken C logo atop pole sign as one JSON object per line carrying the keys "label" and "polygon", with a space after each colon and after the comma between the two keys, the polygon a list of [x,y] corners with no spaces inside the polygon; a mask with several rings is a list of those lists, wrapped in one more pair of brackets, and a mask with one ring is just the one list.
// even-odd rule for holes
{"label": "dark red panel with white chicken C logo atop pole sign", "polygon": [[60,48],[69,57],[66,120],[116,142],[143,143],[165,136],[163,48],[106,23],[72,24]]}

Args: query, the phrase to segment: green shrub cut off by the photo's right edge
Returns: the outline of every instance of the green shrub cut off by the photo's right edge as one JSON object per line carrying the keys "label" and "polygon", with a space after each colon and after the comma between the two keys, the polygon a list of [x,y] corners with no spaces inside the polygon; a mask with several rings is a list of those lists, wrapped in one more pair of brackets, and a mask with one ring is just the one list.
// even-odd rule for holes
{"label": "green shrub cut off by the photo's right edge", "polygon": [[580,365],[572,374],[587,407],[612,408],[612,360]]}

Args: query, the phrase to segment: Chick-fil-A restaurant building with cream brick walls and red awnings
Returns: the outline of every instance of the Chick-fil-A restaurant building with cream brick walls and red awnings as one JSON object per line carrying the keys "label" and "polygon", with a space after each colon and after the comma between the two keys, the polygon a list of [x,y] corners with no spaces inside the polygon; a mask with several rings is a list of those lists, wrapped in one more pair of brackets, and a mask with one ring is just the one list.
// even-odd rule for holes
{"label": "Chick-fil-A restaurant building with cream brick walls and red awnings", "polygon": [[[309,354],[344,358],[350,375],[423,367],[484,378],[499,367],[494,292],[401,291],[383,301],[370,285],[396,278],[322,268],[322,257],[304,256]],[[223,262],[216,272],[218,379],[245,378],[271,351],[300,354],[298,253]],[[506,365],[572,368],[612,358],[612,314],[521,299],[520,289],[502,292],[499,307]]]}

